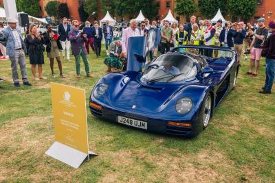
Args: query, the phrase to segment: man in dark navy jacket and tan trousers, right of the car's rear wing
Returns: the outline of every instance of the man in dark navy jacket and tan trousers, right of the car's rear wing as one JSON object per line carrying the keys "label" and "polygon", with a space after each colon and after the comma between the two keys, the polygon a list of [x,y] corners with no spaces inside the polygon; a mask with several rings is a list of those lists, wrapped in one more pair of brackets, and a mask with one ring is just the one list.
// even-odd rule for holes
{"label": "man in dark navy jacket and tan trousers, right of the car's rear wing", "polygon": [[243,39],[246,36],[246,31],[243,29],[243,22],[239,22],[234,34],[234,50],[236,51],[238,64],[241,65],[241,53],[243,52]]}

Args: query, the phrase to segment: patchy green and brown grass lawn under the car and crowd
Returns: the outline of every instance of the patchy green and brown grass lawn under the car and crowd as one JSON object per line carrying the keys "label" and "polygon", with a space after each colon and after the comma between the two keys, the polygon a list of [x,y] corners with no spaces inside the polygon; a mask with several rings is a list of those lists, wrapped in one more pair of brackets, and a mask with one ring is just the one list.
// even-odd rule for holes
{"label": "patchy green and brown grass lawn under the car and crowd", "polygon": [[[104,53],[104,50],[102,51]],[[243,61],[236,88],[225,98],[207,130],[186,139],[151,134],[101,121],[87,106],[89,149],[99,154],[79,169],[45,155],[54,143],[50,82],[91,89],[107,70],[104,54],[89,56],[95,77],[76,79],[74,58],[63,61],[65,79],[47,80],[15,88],[10,61],[0,61],[0,182],[275,182],[275,90],[258,93],[265,81],[245,75]],[[88,102],[87,102],[88,103]]]}

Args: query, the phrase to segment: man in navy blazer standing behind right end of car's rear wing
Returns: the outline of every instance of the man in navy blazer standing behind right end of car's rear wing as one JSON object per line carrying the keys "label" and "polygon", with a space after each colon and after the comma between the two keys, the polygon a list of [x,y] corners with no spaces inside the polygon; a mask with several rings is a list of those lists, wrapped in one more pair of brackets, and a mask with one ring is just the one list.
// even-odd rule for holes
{"label": "man in navy blazer standing behind right end of car's rear wing", "polygon": [[[234,47],[233,36],[235,35],[236,30],[232,29],[230,26],[230,22],[225,23],[225,27],[223,27],[223,30],[219,35],[219,42],[221,42],[221,47],[230,47],[232,49]],[[221,56],[229,57],[230,52],[221,51]]]}

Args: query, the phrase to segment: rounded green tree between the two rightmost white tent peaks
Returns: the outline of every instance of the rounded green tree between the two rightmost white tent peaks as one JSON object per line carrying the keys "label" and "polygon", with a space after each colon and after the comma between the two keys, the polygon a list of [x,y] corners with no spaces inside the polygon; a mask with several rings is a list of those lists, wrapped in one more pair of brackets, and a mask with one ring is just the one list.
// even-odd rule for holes
{"label": "rounded green tree between the two rightmost white tent peaks", "polygon": [[197,5],[194,3],[194,0],[176,0],[175,7],[177,14],[188,17],[197,11]]}

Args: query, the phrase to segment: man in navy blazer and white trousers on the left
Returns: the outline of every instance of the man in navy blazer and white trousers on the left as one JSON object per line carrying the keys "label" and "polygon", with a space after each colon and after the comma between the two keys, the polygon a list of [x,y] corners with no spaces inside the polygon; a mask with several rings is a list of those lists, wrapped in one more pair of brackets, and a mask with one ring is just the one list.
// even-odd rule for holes
{"label": "man in navy blazer and white trousers on the left", "polygon": [[62,45],[62,56],[63,59],[65,58],[65,50],[67,53],[67,60],[69,60],[69,48],[71,47],[71,43],[69,42],[69,36],[68,33],[71,31],[71,25],[67,23],[67,18],[63,17],[62,23],[58,25],[58,34],[61,39],[61,45]]}

